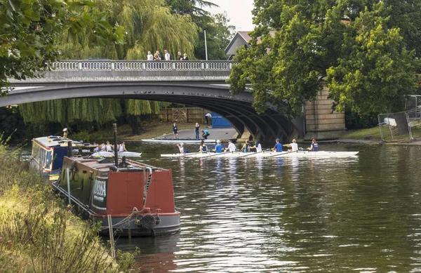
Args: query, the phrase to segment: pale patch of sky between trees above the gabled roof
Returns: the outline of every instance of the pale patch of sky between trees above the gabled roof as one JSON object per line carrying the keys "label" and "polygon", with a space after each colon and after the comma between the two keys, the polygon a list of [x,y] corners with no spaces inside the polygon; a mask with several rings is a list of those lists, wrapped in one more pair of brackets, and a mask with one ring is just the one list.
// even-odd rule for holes
{"label": "pale patch of sky between trees above the gabled roof", "polygon": [[208,0],[213,4],[217,4],[220,8],[206,8],[210,13],[227,12],[229,23],[234,25],[236,30],[250,31],[253,30],[251,10],[254,7],[253,0]]}

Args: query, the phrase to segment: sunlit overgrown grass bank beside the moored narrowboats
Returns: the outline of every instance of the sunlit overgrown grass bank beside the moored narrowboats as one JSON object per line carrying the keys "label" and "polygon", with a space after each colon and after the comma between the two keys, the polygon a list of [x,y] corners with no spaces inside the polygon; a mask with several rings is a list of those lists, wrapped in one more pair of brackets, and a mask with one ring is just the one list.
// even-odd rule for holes
{"label": "sunlit overgrown grass bank beside the moored narrowboats", "polygon": [[0,143],[0,272],[140,272],[133,263],[129,253],[112,259],[98,226],[76,217]]}

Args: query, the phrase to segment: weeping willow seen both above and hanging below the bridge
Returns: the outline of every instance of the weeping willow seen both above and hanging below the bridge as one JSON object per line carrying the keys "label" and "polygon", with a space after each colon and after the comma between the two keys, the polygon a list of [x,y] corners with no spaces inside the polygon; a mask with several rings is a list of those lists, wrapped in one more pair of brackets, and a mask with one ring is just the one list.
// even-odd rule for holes
{"label": "weeping willow seen both above and hanging below the bridge", "polygon": [[[147,51],[163,51],[176,54],[178,51],[191,55],[196,44],[196,25],[189,15],[171,14],[165,2],[161,0],[95,0],[102,13],[106,13],[110,25],[119,25],[126,30],[125,44],[107,44],[90,47],[91,33],[86,32],[70,35],[65,30],[60,40],[62,59],[80,60],[87,58],[109,59],[145,59]],[[72,37],[72,39],[69,39]],[[37,102],[34,105],[23,105],[22,116],[25,121],[59,122],[73,124],[75,122],[95,122],[99,126],[109,121],[115,121],[124,114],[132,127],[133,133],[138,133],[141,127],[140,116],[159,111],[166,102],[149,102],[140,100],[115,100],[118,103],[109,104],[105,99],[76,99],[63,102]],[[76,103],[76,104],[75,104]],[[80,105],[78,106],[78,103]],[[70,110],[62,114],[62,107]],[[121,108],[121,106],[123,108]],[[74,110],[76,107],[76,111]],[[41,112],[42,111],[42,112]],[[46,113],[60,113],[56,116]],[[48,116],[46,116],[48,115]]]}

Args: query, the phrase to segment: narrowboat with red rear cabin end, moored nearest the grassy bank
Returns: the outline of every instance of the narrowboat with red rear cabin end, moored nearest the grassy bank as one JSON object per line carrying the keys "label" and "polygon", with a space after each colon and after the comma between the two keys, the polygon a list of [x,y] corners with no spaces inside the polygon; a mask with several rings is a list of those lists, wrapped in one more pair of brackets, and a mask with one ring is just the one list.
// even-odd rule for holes
{"label": "narrowboat with red rear cabin end, moored nearest the grassy bank", "polygon": [[101,234],[109,234],[110,229],[122,236],[180,231],[171,169],[126,157],[64,157],[53,187],[77,206],[84,218],[101,222]]}

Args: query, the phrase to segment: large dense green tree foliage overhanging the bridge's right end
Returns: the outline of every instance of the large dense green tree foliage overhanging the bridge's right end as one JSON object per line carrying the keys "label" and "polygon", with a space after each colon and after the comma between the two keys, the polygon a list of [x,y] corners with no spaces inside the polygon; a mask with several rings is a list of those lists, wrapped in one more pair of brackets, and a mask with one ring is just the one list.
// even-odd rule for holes
{"label": "large dense green tree foliage overhanging the bridge's right end", "polygon": [[414,8],[419,6],[394,0],[255,0],[257,27],[250,33],[251,48],[237,55],[232,91],[250,82],[258,112],[269,102],[299,115],[305,100],[326,84],[337,111],[345,105],[359,114],[399,111],[404,95],[417,91],[421,48],[413,41],[421,27],[421,9]]}

